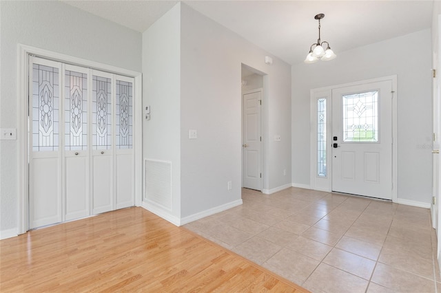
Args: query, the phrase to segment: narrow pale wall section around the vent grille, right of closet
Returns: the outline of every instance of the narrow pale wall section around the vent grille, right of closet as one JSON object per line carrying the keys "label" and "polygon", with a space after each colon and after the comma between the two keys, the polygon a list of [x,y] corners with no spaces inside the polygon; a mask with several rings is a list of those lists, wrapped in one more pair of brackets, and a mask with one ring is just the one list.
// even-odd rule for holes
{"label": "narrow pale wall section around the vent grille, right of closet", "polygon": [[180,4],[143,33],[143,158],[172,162],[172,210],[149,210],[175,224],[181,217],[181,9]]}

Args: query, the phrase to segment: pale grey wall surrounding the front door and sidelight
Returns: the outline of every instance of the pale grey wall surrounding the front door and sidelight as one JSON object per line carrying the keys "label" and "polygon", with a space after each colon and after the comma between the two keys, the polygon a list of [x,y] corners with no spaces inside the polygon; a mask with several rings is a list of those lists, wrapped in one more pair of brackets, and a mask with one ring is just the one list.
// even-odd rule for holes
{"label": "pale grey wall surrounding the front door and sidelight", "polygon": [[431,202],[431,31],[292,66],[292,182],[309,185],[309,90],[398,75],[398,199]]}

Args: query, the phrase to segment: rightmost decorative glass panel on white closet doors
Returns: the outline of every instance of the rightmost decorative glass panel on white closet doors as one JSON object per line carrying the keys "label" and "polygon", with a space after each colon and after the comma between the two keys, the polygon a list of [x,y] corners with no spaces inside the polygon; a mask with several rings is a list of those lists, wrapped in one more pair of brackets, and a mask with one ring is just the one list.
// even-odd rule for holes
{"label": "rightmost decorative glass panel on white closet doors", "polygon": [[132,83],[116,80],[116,148],[132,149]]}

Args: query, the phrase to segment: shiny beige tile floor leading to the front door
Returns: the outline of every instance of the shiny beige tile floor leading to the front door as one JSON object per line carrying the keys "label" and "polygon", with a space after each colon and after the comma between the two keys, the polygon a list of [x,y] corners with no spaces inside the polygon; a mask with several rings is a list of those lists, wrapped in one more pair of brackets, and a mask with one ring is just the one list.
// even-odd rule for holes
{"label": "shiny beige tile floor leading to the front door", "polygon": [[428,209],[288,188],[185,225],[311,292],[441,292]]}

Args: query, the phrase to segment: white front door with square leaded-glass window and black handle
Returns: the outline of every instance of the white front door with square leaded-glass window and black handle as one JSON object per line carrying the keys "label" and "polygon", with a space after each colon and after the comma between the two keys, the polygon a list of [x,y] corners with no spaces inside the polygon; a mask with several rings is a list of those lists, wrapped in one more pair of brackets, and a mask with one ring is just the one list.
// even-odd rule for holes
{"label": "white front door with square leaded-glass window and black handle", "polygon": [[392,199],[392,82],[332,91],[332,191]]}

